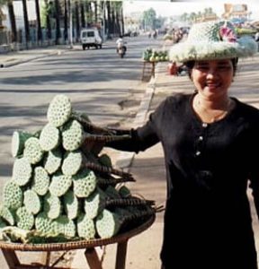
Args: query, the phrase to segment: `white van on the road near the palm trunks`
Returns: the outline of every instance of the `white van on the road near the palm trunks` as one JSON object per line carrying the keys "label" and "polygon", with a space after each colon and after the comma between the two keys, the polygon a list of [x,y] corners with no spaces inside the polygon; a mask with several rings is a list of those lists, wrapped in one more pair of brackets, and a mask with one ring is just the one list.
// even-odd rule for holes
{"label": "white van on the road near the palm trunks", "polygon": [[80,39],[84,50],[90,47],[102,48],[103,39],[100,37],[99,31],[95,28],[81,30]]}

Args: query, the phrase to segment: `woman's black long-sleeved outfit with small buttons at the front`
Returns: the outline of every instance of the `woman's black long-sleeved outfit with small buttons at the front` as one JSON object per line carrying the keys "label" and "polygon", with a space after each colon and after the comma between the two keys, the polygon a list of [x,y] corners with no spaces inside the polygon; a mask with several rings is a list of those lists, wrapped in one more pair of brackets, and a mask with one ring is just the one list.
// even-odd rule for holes
{"label": "woman's black long-sleeved outfit with small buttons at the front", "polygon": [[193,96],[168,97],[145,126],[130,131],[129,141],[109,146],[139,152],[163,145],[167,202],[161,258],[166,269],[255,269],[246,190],[249,183],[258,215],[259,110],[233,98],[236,106],[226,117],[206,124],[192,109]]}

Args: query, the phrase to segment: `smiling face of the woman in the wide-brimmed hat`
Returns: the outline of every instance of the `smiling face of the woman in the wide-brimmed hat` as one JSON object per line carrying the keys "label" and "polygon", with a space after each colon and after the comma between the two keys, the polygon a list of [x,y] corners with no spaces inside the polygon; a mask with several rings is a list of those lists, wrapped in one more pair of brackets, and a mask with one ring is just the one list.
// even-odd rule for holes
{"label": "smiling face of the woman in the wide-brimmed hat", "polygon": [[192,68],[192,82],[207,99],[226,95],[233,76],[230,59],[196,61]]}

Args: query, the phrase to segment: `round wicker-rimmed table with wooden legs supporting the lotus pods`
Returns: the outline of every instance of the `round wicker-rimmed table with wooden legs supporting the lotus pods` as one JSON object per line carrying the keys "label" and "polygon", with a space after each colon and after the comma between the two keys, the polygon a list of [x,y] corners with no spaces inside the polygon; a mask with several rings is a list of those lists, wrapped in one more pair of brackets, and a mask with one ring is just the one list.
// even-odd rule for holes
{"label": "round wicker-rimmed table with wooden legs supporting the lotus pods", "polygon": [[[155,221],[155,214],[151,216],[147,221],[136,227],[118,234],[111,239],[92,239],[92,240],[80,240],[67,243],[49,243],[49,244],[21,244],[21,243],[6,243],[0,241],[0,248],[4,254],[5,261],[10,269],[24,269],[24,268],[59,268],[67,269],[65,267],[56,267],[49,265],[49,258],[46,258],[44,264],[30,265],[21,264],[15,251],[37,251],[47,252],[49,255],[53,251],[67,251],[73,249],[85,249],[85,258],[91,269],[102,269],[102,262],[98,257],[95,247],[102,247],[109,244],[117,244],[117,254],[115,269],[124,269],[126,264],[127,246],[130,238],[137,236],[139,233],[147,230]],[[49,257],[49,255],[47,257]]]}

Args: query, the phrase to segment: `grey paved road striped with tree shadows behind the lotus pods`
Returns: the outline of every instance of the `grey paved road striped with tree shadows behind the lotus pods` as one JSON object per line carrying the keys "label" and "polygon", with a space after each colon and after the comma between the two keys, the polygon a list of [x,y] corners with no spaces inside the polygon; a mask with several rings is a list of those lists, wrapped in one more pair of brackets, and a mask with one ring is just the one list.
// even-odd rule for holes
{"label": "grey paved road striped with tree shadows behind the lotus pods", "polygon": [[[142,51],[149,42],[145,37],[128,39],[128,51],[123,59],[116,55],[115,43],[110,41],[103,49],[83,51],[77,46],[65,54],[2,68],[0,187],[12,174],[13,131],[34,132],[42,128],[47,123],[49,101],[56,94],[67,94],[77,111],[86,112],[101,126],[117,126],[125,118],[134,117],[147,84],[140,81],[140,76]],[[152,42],[155,47],[160,44],[159,40]],[[125,109],[127,105],[135,110]]]}

